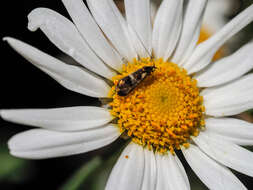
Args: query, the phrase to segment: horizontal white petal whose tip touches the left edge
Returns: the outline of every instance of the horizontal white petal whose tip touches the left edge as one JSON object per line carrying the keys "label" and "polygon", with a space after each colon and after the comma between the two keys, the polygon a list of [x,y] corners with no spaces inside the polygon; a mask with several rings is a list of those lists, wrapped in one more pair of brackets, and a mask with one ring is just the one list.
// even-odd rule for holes
{"label": "horizontal white petal whose tip touches the left edge", "polygon": [[87,130],[101,127],[112,120],[107,109],[91,106],[0,110],[0,116],[14,123],[57,131]]}

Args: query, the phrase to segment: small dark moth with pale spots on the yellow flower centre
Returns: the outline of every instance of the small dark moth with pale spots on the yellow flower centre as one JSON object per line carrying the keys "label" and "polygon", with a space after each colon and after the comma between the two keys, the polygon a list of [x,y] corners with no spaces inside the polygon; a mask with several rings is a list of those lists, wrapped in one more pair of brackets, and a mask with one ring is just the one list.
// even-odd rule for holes
{"label": "small dark moth with pale spots on the yellow flower centre", "polygon": [[119,96],[128,95],[133,89],[136,88],[138,84],[140,84],[147,76],[149,76],[155,70],[155,68],[155,66],[144,66],[130,75],[120,79],[116,86],[117,94]]}

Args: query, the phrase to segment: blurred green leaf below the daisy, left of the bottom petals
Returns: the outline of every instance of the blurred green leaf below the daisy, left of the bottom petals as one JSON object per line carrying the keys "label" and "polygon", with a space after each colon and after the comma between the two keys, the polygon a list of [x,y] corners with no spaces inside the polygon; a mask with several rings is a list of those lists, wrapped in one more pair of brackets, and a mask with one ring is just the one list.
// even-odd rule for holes
{"label": "blurred green leaf below the daisy, left of the bottom petals", "polygon": [[61,190],[77,190],[90,174],[95,171],[102,164],[102,160],[99,157],[93,158],[91,161],[85,163],[81,169],[79,169],[68,182],[62,186]]}

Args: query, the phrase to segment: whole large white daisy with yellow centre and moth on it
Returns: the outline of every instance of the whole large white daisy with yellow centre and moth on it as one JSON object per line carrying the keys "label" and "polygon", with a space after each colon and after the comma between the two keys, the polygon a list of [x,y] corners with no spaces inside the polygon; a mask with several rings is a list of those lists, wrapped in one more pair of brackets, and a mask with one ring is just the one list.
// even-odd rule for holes
{"label": "whole large white daisy with yellow centre and moth on it", "polygon": [[131,143],[106,190],[190,189],[179,151],[209,189],[246,189],[229,168],[253,176],[253,154],[241,147],[253,144],[253,126],[228,116],[253,108],[253,75],[246,74],[253,68],[253,43],[210,63],[224,42],[253,20],[253,5],[197,45],[206,0],[163,0],[153,26],[147,0],[125,0],[126,18],[112,0],[87,0],[89,9],[82,0],[63,3],[73,23],[38,8],[28,15],[28,28],[40,28],[80,66],[17,39],[4,40],[62,86],[108,103],[1,110],[5,120],[40,127],[12,137],[10,153],[67,156],[122,135]]}

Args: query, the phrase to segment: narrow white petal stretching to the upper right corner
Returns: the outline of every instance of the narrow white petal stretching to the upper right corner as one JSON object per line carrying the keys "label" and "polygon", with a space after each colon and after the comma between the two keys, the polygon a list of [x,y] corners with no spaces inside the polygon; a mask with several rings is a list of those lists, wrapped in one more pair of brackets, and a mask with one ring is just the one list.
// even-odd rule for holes
{"label": "narrow white petal stretching to the upper right corner", "polygon": [[234,34],[244,28],[253,20],[253,5],[248,7],[219,32],[197,46],[192,56],[184,65],[188,73],[197,72],[206,67],[212,60],[216,51]]}

